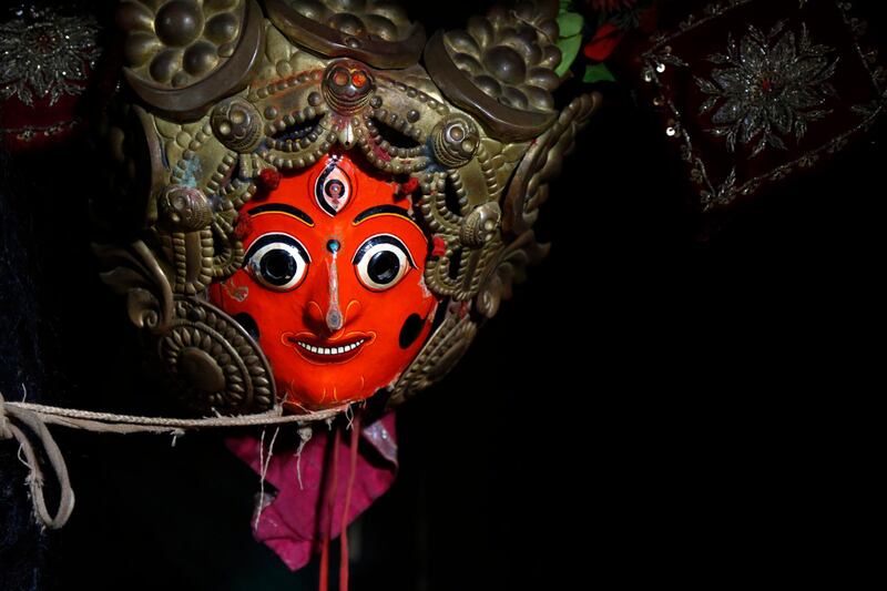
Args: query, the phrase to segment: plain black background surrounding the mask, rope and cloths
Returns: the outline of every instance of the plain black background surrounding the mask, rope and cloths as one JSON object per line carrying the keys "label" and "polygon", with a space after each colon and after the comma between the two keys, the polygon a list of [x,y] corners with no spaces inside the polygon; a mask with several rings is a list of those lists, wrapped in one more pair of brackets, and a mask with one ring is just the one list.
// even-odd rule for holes
{"label": "plain black background surrounding the mask, rope and cloths", "polygon": [[[426,22],[469,10],[449,6]],[[883,131],[701,217],[660,128],[603,90],[543,207],[549,258],[399,410],[400,473],[351,534],[353,589],[854,587],[874,563]],[[4,166],[4,261],[28,285],[6,275],[4,356],[24,370],[3,391],[125,406],[140,367],[89,253],[99,187],[57,156]],[[316,587],[316,564],[290,575],[252,542],[257,478],[216,436],[55,431],[78,508],[26,552],[49,588]]]}

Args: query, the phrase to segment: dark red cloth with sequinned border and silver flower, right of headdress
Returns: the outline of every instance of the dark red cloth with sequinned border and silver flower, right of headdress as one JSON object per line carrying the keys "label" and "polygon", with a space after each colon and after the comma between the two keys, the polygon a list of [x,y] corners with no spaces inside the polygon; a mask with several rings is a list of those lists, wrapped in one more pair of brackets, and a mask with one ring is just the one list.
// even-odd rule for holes
{"label": "dark red cloth with sequinned border and silver flower, right of headdress", "polygon": [[641,75],[703,210],[815,166],[884,111],[885,71],[850,4],[680,4],[642,51]]}

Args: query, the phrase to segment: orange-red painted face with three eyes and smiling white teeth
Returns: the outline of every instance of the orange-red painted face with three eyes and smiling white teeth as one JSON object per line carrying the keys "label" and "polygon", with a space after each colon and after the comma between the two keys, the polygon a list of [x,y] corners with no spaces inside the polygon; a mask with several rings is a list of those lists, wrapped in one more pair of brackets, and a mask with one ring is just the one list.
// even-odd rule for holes
{"label": "orange-red painted face with three eyes and smiling white teeth", "polygon": [[371,396],[428,336],[428,238],[397,186],[332,154],[241,212],[252,226],[243,268],[210,296],[257,333],[290,407]]}

